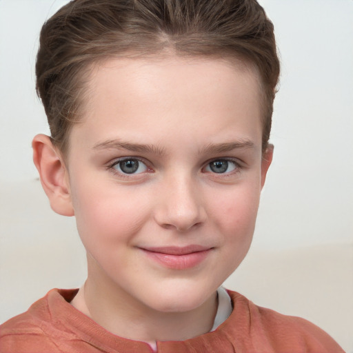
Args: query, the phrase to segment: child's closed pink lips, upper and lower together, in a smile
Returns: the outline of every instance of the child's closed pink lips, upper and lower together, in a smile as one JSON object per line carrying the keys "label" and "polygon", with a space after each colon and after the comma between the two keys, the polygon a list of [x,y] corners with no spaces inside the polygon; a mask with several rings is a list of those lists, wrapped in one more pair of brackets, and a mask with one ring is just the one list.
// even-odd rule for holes
{"label": "child's closed pink lips, upper and lower together, in a smile", "polygon": [[149,259],[174,270],[187,270],[205,260],[213,248],[202,245],[141,248]]}

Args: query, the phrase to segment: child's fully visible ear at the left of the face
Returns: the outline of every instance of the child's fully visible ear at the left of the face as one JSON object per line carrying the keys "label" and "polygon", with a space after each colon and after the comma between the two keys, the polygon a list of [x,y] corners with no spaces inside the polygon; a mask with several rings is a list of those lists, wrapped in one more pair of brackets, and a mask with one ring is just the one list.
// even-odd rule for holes
{"label": "child's fully visible ear at the left of the face", "polygon": [[61,154],[43,134],[34,137],[32,148],[34,165],[52,210],[63,216],[73,216],[68,171]]}

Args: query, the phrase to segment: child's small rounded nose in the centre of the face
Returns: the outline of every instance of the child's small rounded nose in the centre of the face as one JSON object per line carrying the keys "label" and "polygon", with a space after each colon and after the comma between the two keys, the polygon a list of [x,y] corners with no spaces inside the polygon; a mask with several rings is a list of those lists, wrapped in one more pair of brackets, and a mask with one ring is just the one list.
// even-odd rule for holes
{"label": "child's small rounded nose in the centre of the face", "polygon": [[188,177],[172,177],[159,189],[156,222],[165,229],[185,232],[202,225],[206,219],[203,195]]}

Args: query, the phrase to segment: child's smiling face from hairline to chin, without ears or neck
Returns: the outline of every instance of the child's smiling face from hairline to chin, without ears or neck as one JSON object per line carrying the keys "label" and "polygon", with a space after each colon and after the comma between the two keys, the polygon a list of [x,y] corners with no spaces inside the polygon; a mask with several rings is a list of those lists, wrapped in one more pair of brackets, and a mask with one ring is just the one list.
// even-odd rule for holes
{"label": "child's smiling face from hairline to chin, without ears or neck", "polygon": [[112,59],[88,85],[67,160],[88,279],[152,310],[199,307],[252,241],[270,164],[257,75],[216,60]]}

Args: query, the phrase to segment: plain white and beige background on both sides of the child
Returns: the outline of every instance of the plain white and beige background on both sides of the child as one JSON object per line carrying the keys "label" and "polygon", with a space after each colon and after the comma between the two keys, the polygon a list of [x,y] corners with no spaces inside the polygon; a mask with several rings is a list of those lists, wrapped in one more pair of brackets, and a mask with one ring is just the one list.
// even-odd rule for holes
{"label": "plain white and beige background on both sides of the child", "polygon": [[[74,219],[50,210],[30,146],[48,134],[34,92],[39,30],[66,2],[0,0],[0,322],[85,278]],[[252,250],[228,287],[353,352],[353,1],[260,2],[282,61],[275,153]]]}

